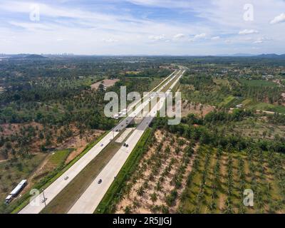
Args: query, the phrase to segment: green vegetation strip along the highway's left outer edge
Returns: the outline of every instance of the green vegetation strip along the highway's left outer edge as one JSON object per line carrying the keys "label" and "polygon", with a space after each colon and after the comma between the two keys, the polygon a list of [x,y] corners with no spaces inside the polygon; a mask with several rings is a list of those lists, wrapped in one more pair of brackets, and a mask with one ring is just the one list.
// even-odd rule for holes
{"label": "green vegetation strip along the highway's left outer edge", "polygon": [[[68,170],[79,159],[81,159],[81,157],[83,157],[83,155],[85,155],[92,147],[94,147],[109,132],[110,132],[109,130],[106,131],[105,133],[103,133],[103,135],[100,135],[100,137],[98,139],[96,139],[94,142],[90,142],[90,144],[88,144],[84,148],[83,152],[81,152],[80,155],[76,156],[73,160],[68,162],[68,164],[66,164],[65,166],[63,163],[63,165],[56,168],[56,170],[53,170],[53,172],[50,172],[50,174],[48,176],[44,177],[38,183],[33,185],[33,187],[31,187],[31,189],[41,190],[41,189],[45,189],[46,187],[51,185],[55,180],[58,179],[58,177],[61,177],[61,175],[63,175],[63,173],[66,172],[66,170]],[[68,149],[68,150],[71,151],[72,149]],[[31,197],[30,193],[27,192],[25,195],[23,195],[21,197],[21,199],[19,199],[18,202],[16,202],[16,204],[11,204],[11,209],[8,209],[7,212],[8,213],[11,212],[12,214],[18,213],[21,209],[23,209],[28,204],[30,197]]]}

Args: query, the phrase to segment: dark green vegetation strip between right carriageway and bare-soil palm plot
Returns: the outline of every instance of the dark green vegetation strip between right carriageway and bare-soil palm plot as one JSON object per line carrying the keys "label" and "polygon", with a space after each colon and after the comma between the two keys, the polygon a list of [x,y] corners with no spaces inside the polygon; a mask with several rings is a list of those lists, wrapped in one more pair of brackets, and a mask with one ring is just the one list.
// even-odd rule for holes
{"label": "dark green vegetation strip between right carriageway and bare-soil palm plot", "polygon": [[131,174],[135,171],[142,158],[142,155],[147,151],[147,145],[150,142],[150,138],[154,133],[154,128],[147,128],[143,133],[142,138],[135,148],[130,153],[130,156],[126,160],[122,169],[115,177],[112,185],[110,185],[108,191],[104,195],[98,207],[95,209],[96,214],[112,213],[115,209],[115,204],[120,200],[125,189],[125,183],[130,178]]}

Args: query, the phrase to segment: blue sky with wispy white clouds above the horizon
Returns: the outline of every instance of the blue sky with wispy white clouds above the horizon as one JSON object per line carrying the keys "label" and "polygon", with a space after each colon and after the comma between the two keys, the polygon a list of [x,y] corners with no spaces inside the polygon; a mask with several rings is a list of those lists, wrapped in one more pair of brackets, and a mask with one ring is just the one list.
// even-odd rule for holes
{"label": "blue sky with wispy white clouds above the horizon", "polygon": [[285,53],[285,0],[0,0],[0,53]]}

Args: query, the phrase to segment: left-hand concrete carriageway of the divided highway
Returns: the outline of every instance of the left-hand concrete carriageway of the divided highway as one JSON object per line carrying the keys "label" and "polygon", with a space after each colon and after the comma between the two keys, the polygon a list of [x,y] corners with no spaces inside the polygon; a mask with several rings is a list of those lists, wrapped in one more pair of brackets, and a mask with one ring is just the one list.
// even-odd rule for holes
{"label": "left-hand concrete carriageway of the divided highway", "polygon": [[[179,73],[181,73],[180,69],[165,78],[162,83],[155,87],[155,89],[160,87],[157,92],[160,92],[163,88],[165,88],[165,86],[167,86],[167,84],[170,83],[173,78],[175,78]],[[163,83],[165,83],[165,85],[163,85]],[[145,97],[150,95],[152,91],[147,93]],[[154,96],[155,95],[151,95],[150,98],[153,98]],[[120,121],[120,123],[116,125],[115,128],[110,131],[110,133],[105,135],[105,137],[101,139],[94,147],[92,147],[85,155],[83,155],[83,157],[81,157],[74,165],[72,165],[68,170],[66,170],[66,172],[64,172],[61,177],[58,177],[57,180],[55,180],[44,190],[44,195],[46,197],[45,203],[48,204],[49,202],[51,202],[51,200],[56,197],[56,195],[58,195],[58,193],[61,192],[61,190],[63,190],[73,180],[73,178],[76,177],[76,175],[78,175],[79,172],[81,172],[81,170],[83,170],[83,168],[86,167],[86,165],[88,165],[88,163],[91,162],[110,143],[110,141],[113,140],[113,138],[115,138],[116,135],[119,134],[120,130],[123,130],[123,128],[128,126],[128,124],[135,118],[136,115],[138,115],[143,110],[143,108],[145,108],[146,105],[149,104],[149,102],[150,101],[146,99],[140,105],[138,105],[140,103],[138,102],[128,108],[128,113],[130,114],[124,120]],[[138,107],[136,107],[135,110],[132,111],[135,105],[138,105]],[[66,179],[65,177],[68,177],[68,179]],[[45,207],[45,203],[42,202],[42,199],[42,194],[36,196],[33,199],[33,202],[36,202],[36,204],[27,204],[26,207],[21,209],[19,214],[38,214]]]}

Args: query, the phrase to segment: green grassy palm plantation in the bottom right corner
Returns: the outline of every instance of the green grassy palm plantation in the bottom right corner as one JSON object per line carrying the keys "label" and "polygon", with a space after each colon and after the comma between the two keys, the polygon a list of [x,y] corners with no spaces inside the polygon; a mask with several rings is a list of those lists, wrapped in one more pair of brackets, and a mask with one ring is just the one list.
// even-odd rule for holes
{"label": "green grassy palm plantation in the bottom right corner", "polygon": [[[179,207],[181,213],[284,213],[284,155],[200,147]],[[243,204],[245,189],[254,206]]]}

